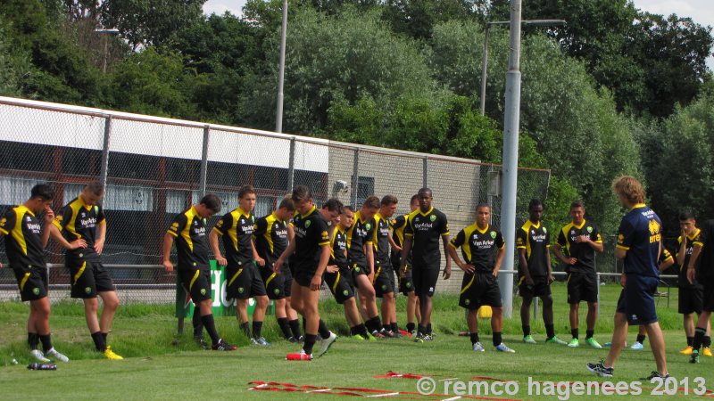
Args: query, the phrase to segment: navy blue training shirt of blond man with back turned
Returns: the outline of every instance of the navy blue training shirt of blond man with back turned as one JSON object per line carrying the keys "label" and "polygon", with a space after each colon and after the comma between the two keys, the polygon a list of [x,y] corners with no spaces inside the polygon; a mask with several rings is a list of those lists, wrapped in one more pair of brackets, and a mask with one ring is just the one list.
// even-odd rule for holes
{"label": "navy blue training shirt of blond man with back turned", "polygon": [[660,277],[657,260],[660,255],[662,221],[643,203],[636,204],[622,217],[618,248],[627,250],[625,273]]}

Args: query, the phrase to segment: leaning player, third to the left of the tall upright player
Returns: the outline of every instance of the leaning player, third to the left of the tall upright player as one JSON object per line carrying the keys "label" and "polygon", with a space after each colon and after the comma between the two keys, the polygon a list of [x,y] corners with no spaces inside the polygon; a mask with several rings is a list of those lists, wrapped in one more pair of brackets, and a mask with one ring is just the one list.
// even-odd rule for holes
{"label": "leaning player, third to the left of the tall upright player", "polygon": [[347,260],[353,276],[353,284],[360,296],[361,315],[369,334],[379,339],[386,338],[386,332],[379,321],[377,299],[372,285],[374,277],[374,215],[379,209],[379,198],[369,196],[361,209],[354,213],[353,225],[347,229]]}

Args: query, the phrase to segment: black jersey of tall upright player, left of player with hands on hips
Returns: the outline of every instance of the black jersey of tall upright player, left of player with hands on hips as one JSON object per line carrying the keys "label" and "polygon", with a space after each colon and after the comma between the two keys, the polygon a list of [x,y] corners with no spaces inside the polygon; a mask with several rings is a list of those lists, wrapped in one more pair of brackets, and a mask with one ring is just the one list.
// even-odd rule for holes
{"label": "black jersey of tall upright player, left of player with hands on hips", "polygon": [[411,212],[404,228],[404,236],[411,237],[411,259],[420,268],[439,268],[441,250],[439,242],[449,235],[449,221],[441,211],[431,208],[426,213],[421,209]]}

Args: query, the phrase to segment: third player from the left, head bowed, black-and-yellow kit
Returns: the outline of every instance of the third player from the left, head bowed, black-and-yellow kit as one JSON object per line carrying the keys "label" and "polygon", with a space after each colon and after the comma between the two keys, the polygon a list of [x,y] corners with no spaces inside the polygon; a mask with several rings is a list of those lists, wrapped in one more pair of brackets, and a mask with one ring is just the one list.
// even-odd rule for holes
{"label": "third player from the left, head bowed, black-and-yellow kit", "polygon": [[[201,324],[194,323],[194,329],[203,340],[203,327],[211,336],[211,348],[216,351],[233,351],[236,346],[221,340],[213,321],[211,300],[211,266],[208,263],[208,243],[206,241],[206,219],[220,212],[220,199],[213,194],[205,195],[197,205],[184,210],[173,219],[169,230],[163,236],[163,267],[173,272],[170,261],[171,246],[176,238],[179,253],[179,280],[194,301],[194,316],[200,316]],[[197,320],[197,319],[194,319]],[[194,335],[197,334],[196,332]]]}

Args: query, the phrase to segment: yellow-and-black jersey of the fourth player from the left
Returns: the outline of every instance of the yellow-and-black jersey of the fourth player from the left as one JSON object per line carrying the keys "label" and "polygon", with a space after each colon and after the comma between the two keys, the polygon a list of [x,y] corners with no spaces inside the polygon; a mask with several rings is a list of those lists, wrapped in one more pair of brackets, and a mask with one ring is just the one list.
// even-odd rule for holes
{"label": "yellow-and-black jersey of the fourth player from the left", "polygon": [[223,238],[228,266],[243,266],[253,261],[253,228],[255,217],[244,209],[234,209],[220,217],[213,231]]}

